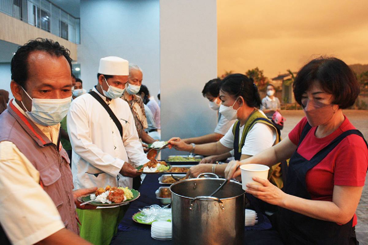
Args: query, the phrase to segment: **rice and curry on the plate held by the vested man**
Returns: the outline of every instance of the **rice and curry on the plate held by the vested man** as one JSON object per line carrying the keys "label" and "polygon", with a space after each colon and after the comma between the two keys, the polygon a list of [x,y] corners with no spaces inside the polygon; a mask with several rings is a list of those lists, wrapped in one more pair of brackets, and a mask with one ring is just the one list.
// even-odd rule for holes
{"label": "rice and curry on the plate held by the vested man", "polygon": [[91,200],[102,203],[120,203],[133,197],[133,193],[128,187],[111,187],[98,188],[95,194],[90,195]]}

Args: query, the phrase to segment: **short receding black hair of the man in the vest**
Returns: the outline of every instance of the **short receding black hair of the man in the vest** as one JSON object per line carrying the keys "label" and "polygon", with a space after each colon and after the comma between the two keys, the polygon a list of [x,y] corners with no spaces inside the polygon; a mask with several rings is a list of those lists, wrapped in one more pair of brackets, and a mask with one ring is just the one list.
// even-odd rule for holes
{"label": "short receding black hair of the man in the vest", "polygon": [[25,82],[28,79],[28,57],[33,51],[45,51],[57,57],[63,55],[70,65],[71,72],[72,59],[70,58],[70,51],[67,48],[51,39],[37,38],[35,40],[30,40],[23,46],[18,47],[18,50],[11,59],[11,79],[24,89],[26,85]]}

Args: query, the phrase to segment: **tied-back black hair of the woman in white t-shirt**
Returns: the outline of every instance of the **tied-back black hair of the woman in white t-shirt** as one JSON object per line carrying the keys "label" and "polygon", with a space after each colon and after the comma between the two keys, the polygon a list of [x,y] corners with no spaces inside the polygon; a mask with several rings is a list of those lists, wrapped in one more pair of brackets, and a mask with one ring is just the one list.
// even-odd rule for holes
{"label": "tied-back black hair of the woman in white t-shirt", "polygon": [[254,84],[252,78],[248,78],[244,74],[236,73],[227,75],[222,80],[220,90],[234,97],[243,97],[248,107],[261,106],[261,97],[259,96],[257,86]]}

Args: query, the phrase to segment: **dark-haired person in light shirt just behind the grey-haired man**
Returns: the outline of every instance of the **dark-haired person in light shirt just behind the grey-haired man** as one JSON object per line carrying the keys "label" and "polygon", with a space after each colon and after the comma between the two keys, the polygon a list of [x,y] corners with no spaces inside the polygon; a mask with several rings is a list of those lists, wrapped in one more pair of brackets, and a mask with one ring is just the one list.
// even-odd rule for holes
{"label": "dark-haired person in light shirt just behind the grey-haired man", "polygon": [[153,118],[151,109],[147,106],[149,101],[151,101],[151,99],[149,98],[148,88],[145,85],[141,85],[141,89],[139,89],[137,95],[141,96],[144,105],[144,112],[146,114],[148,125],[148,127],[145,129],[146,133],[148,133],[148,135],[155,140],[161,140],[161,136],[160,133],[158,132],[158,127],[156,126],[156,122],[155,119]]}

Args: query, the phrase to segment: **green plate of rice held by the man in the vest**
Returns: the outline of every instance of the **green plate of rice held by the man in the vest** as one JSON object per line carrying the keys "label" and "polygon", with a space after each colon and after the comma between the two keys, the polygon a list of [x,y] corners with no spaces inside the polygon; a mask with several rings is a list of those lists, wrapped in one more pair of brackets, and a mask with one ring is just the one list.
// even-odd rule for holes
{"label": "green plate of rice held by the man in the vest", "polygon": [[128,187],[110,187],[98,188],[94,194],[80,197],[81,202],[90,202],[94,206],[117,206],[127,202],[134,201],[139,197],[139,192]]}

